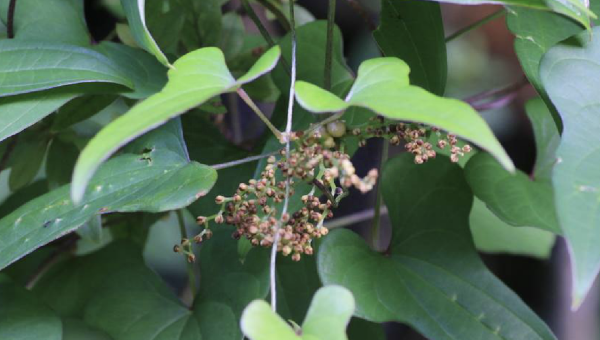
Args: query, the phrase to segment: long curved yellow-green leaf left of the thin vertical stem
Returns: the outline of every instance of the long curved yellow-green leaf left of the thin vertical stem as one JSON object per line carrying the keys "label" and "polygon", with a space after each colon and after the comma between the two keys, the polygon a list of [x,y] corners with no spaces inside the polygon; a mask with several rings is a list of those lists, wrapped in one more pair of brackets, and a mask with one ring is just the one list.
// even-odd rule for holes
{"label": "long curved yellow-green leaf left of the thin vertical stem", "polygon": [[229,73],[223,53],[217,48],[202,48],[177,60],[161,92],[112,121],[82,151],[73,174],[73,200],[81,201],[98,166],[125,143],[216,95],[235,91],[242,84],[269,72],[279,56],[279,48],[272,48],[237,81]]}

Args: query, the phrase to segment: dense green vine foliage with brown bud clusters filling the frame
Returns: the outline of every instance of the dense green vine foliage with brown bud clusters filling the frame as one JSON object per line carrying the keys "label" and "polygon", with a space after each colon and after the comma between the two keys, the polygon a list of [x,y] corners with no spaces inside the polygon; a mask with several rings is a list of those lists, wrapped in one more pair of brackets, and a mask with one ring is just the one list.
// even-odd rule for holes
{"label": "dense green vine foliage with brown bud clusters filling the frame", "polygon": [[[380,55],[353,70],[335,0],[327,21],[290,0],[0,0],[0,339],[555,339],[478,251],[564,237],[574,308],[598,275],[600,1],[495,2],[539,94],[531,174],[444,96],[438,2],[382,0]],[[381,164],[359,164],[371,141]],[[366,239],[341,228],[364,212],[333,216],[371,191]]]}

